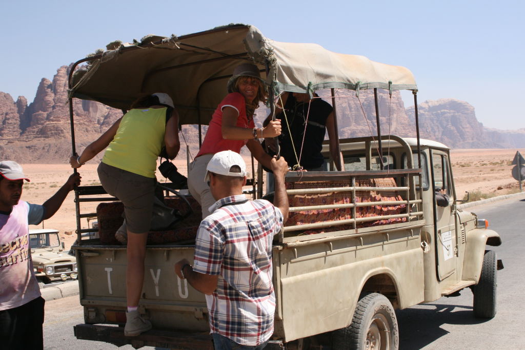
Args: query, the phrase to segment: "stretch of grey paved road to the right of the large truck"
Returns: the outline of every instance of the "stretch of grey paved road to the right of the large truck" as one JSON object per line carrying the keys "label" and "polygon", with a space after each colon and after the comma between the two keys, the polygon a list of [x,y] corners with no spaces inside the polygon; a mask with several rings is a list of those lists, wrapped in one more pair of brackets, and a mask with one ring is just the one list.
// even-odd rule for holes
{"label": "stretch of grey paved road to the right of the large truck", "polygon": [[525,199],[508,199],[470,207],[489,220],[502,245],[493,247],[505,269],[498,271],[497,314],[492,320],[472,315],[469,288],[455,298],[397,311],[400,349],[523,349],[525,307],[521,303],[525,282]]}

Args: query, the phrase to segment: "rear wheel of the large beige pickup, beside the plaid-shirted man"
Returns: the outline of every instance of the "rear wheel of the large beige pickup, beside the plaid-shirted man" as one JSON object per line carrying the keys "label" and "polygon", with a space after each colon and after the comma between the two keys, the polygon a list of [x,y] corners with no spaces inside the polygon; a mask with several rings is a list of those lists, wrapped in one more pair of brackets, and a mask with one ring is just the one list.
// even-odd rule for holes
{"label": "rear wheel of the large beige pickup, beside the plaid-shirted man", "polygon": [[332,349],[381,349],[399,347],[399,330],[394,307],[383,294],[361,295],[352,323],[332,332]]}

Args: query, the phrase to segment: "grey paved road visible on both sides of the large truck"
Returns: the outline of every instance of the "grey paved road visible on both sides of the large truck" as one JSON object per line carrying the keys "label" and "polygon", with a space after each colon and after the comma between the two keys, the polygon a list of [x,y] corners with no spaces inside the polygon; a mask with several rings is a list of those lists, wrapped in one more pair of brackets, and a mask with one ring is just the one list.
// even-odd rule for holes
{"label": "grey paved road visible on both sides of the large truck", "polygon": [[[495,247],[505,269],[498,271],[498,312],[486,321],[472,315],[472,293],[465,289],[455,298],[442,298],[397,312],[400,349],[520,349],[525,348],[525,199],[507,199],[466,210],[489,220],[501,235]],[[78,295],[46,302],[45,349],[114,349],[111,344],[77,340],[73,326],[83,323]],[[132,349],[131,346],[122,349]],[[153,349],[144,347],[143,349]]]}

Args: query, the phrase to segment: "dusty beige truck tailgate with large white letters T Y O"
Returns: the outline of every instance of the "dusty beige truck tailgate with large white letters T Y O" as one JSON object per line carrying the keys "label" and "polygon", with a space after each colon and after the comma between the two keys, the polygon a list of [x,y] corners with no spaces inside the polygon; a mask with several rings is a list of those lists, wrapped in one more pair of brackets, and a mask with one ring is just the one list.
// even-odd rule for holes
{"label": "dusty beige truck tailgate with large white letters T Y O", "polygon": [[[118,246],[75,247],[81,268],[89,273],[80,279],[80,303],[85,322],[119,324],[126,307],[126,249]],[[208,321],[204,295],[173,272],[175,262],[193,260],[194,246],[146,249],[144,287],[140,307],[157,328],[206,331]]]}

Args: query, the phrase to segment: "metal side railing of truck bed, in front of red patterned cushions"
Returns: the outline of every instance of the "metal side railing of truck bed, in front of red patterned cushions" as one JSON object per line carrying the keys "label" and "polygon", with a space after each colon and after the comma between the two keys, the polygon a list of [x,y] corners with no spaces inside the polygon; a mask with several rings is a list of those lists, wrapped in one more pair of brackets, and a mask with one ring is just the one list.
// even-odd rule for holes
{"label": "metal side railing of truck bed, in front of red patterned cushions", "polygon": [[423,201],[414,189],[418,176],[420,169],[290,172],[290,215],[279,242],[422,226]]}

